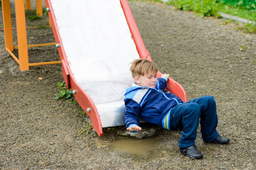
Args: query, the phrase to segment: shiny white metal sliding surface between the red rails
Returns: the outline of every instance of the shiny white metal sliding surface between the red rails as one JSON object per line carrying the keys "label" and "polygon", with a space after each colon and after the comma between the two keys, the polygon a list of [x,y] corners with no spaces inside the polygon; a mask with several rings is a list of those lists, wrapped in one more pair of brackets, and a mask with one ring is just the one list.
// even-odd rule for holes
{"label": "shiny white metal sliding surface between the red rails", "polygon": [[102,128],[124,125],[124,94],[139,59],[119,0],[51,0],[73,76],[92,98]]}

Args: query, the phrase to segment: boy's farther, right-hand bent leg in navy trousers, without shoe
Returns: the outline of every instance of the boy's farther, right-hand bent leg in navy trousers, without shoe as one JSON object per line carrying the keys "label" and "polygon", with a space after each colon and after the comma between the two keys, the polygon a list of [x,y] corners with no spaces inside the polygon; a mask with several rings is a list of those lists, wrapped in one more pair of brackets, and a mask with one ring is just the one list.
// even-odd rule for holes
{"label": "boy's farther, right-hand bent leg in navy trousers, without shoe", "polygon": [[203,96],[188,101],[188,103],[197,103],[200,105],[200,124],[201,134],[204,142],[211,142],[218,137],[216,130],[218,117],[216,112],[216,102],[212,96]]}

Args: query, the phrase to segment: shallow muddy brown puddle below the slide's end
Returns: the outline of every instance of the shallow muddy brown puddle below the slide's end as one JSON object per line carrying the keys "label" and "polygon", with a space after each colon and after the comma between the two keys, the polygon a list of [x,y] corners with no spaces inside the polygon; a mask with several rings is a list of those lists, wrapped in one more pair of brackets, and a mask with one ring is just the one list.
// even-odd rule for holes
{"label": "shallow muddy brown puddle below the slide's end", "polygon": [[122,154],[147,155],[154,152],[172,149],[179,143],[179,137],[171,134],[160,134],[146,139],[125,138],[111,143],[110,150]]}

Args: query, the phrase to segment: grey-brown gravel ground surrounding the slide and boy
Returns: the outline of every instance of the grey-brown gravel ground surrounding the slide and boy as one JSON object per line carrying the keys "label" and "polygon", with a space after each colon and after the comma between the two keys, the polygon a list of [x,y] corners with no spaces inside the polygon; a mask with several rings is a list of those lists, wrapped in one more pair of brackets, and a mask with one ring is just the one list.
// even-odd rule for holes
{"label": "grey-brown gravel ground surrounding the slide and boy", "polygon": [[[234,23],[201,19],[160,3],[129,4],[159,70],[183,85],[188,100],[214,96],[217,130],[230,144],[204,143],[198,133],[196,145],[204,158],[194,160],[181,155],[173,142],[180,132],[158,129],[151,139],[160,138],[161,145],[146,154],[113,150],[113,142],[127,139],[119,135],[125,127],[106,128],[104,137],[97,137],[74,97],[53,100],[60,92],[57,82],[64,80],[61,65],[20,71],[5,52],[1,30],[0,169],[255,169],[256,35],[238,31]],[[13,2],[11,7],[15,19]],[[27,20],[27,26],[47,23],[47,17]],[[15,30],[13,35],[15,44]],[[27,29],[27,38],[28,44],[55,42],[51,28]],[[59,60],[55,46],[30,48],[28,53],[30,62]]]}

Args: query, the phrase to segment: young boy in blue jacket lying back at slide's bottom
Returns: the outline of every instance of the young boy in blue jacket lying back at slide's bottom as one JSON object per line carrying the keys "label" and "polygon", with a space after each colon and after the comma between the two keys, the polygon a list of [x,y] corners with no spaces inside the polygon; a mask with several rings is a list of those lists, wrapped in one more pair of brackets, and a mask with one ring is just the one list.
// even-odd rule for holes
{"label": "young boy in blue jacket lying back at slide's bottom", "polygon": [[172,93],[164,89],[169,74],[156,78],[158,67],[146,59],[135,59],[131,63],[131,74],[135,80],[133,87],[127,88],[125,94],[125,124],[129,131],[137,132],[139,118],[160,128],[181,130],[179,140],[180,152],[190,158],[203,158],[195,146],[199,119],[204,142],[226,144],[228,138],[221,137],[216,131],[216,103],[212,96],[203,96],[183,103]]}

